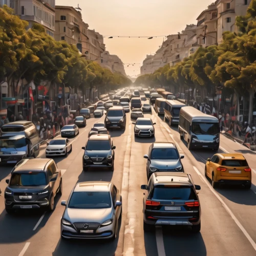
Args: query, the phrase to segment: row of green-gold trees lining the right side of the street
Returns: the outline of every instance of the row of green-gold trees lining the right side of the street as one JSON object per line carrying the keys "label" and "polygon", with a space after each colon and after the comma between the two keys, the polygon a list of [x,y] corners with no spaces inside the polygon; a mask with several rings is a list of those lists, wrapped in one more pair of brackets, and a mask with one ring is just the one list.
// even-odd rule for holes
{"label": "row of green-gold trees lining the right side of the street", "polygon": [[191,89],[204,86],[210,94],[222,85],[249,98],[251,122],[256,90],[256,0],[251,1],[246,16],[237,17],[236,25],[239,33],[224,32],[221,45],[200,47],[177,65],[140,76],[135,83],[173,85],[178,90],[184,85]]}

